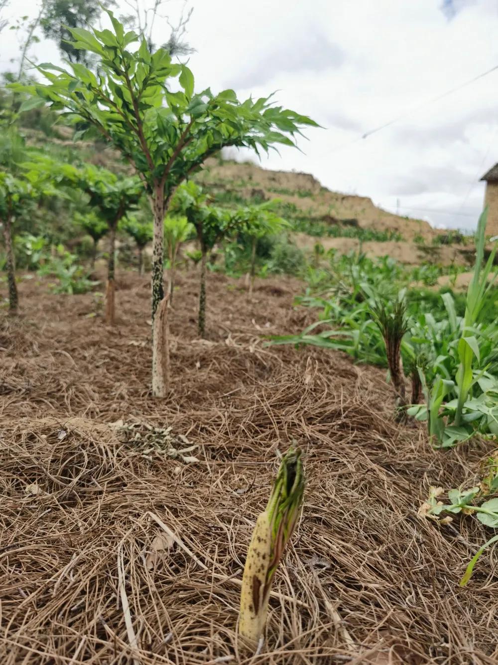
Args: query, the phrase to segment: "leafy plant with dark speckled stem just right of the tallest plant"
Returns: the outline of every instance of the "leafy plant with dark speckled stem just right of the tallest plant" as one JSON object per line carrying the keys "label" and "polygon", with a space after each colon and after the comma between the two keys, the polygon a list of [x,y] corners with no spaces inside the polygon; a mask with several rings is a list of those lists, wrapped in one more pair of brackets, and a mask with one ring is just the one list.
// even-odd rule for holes
{"label": "leafy plant with dark speckled stem just right of the tallest plant", "polygon": [[201,247],[201,284],[199,288],[198,332],[206,334],[206,267],[208,253],[216,243],[226,239],[240,225],[240,219],[228,210],[207,205],[208,196],[195,182],[187,182],[178,188],[172,208],[185,214],[195,228]]}

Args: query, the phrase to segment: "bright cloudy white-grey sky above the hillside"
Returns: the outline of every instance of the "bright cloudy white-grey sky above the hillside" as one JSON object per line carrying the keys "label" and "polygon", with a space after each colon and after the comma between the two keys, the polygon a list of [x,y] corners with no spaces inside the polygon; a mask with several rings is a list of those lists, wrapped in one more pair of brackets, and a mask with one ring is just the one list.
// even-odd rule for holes
{"label": "bright cloudy white-grey sky above the hillside", "polygon": [[[143,5],[151,0],[141,0]],[[125,7],[124,2],[120,2]],[[176,19],[183,6],[171,0]],[[278,102],[311,116],[303,154],[284,148],[262,165],[313,174],[331,190],[376,205],[472,228],[479,178],[498,162],[498,0],[191,0],[187,39],[196,88],[234,88],[239,98],[277,90]],[[35,15],[35,0],[5,12]],[[166,41],[165,20],[155,40]],[[0,71],[13,68],[14,31],[0,37]],[[53,43],[33,49],[60,63]],[[368,138],[363,134],[400,119]]]}

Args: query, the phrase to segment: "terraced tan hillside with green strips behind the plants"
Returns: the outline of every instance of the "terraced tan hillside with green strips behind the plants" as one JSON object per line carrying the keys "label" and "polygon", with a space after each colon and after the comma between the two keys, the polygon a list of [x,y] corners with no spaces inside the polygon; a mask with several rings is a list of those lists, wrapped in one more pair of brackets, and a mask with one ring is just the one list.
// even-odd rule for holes
{"label": "terraced tan hillside with green strips behind the plants", "polygon": [[[72,142],[67,128],[50,137],[50,152],[70,162],[92,162],[117,172],[131,172],[116,150],[92,141]],[[26,130],[29,144],[43,149],[46,136]],[[66,136],[67,134],[67,136]],[[390,256],[418,265],[424,261],[467,265],[473,251],[465,244],[442,238],[447,231],[433,229],[427,221],[389,213],[365,196],[332,192],[311,174],[272,171],[253,162],[221,157],[207,160],[195,180],[212,195],[216,205],[237,207],[280,199],[278,213],[293,227],[292,239],[307,251],[319,242],[339,253],[365,251],[370,257]]]}

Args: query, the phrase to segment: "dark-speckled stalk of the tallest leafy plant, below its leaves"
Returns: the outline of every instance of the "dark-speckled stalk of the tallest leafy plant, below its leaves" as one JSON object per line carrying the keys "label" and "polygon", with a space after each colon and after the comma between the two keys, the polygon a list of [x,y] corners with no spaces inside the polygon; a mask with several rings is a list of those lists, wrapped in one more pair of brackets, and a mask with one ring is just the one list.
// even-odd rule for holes
{"label": "dark-speckled stalk of the tallest leafy plant, below its leaves", "polygon": [[[163,188],[154,190],[152,209],[154,215],[154,237],[152,241],[152,394],[154,397],[165,397],[167,393],[167,376],[169,350],[161,334],[165,321],[165,313],[161,314],[159,323],[155,323],[159,306],[166,307],[164,297],[164,212],[165,201]],[[161,310],[162,311],[162,310]],[[163,322],[163,323],[161,323]]]}

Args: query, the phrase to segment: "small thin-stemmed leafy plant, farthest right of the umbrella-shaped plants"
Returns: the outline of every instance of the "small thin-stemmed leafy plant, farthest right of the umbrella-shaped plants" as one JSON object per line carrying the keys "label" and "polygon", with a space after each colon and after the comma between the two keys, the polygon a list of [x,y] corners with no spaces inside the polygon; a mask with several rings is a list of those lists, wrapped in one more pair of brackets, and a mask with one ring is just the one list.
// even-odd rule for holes
{"label": "small thin-stemmed leafy plant, farthest right of the umbrella-shaped plants", "polygon": [[274,208],[278,203],[280,203],[279,199],[274,199],[273,201],[265,201],[259,205],[248,205],[236,213],[236,219],[242,228],[242,232],[250,239],[251,243],[250,298],[252,298],[254,279],[256,279],[256,249],[258,248],[258,240],[267,235],[275,235],[289,226],[289,223],[285,219],[282,219],[282,217],[279,217],[274,212]]}

